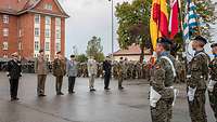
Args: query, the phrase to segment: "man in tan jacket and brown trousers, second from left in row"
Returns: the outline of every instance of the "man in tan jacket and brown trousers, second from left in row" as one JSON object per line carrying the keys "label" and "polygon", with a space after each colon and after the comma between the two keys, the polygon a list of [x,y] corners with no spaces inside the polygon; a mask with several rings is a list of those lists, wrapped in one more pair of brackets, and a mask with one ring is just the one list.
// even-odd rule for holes
{"label": "man in tan jacket and brown trousers, second from left in row", "polygon": [[35,72],[38,73],[38,86],[37,93],[39,97],[43,97],[44,95],[44,85],[46,85],[46,78],[48,74],[48,60],[44,56],[44,51],[39,51],[39,56],[36,58],[35,62]]}

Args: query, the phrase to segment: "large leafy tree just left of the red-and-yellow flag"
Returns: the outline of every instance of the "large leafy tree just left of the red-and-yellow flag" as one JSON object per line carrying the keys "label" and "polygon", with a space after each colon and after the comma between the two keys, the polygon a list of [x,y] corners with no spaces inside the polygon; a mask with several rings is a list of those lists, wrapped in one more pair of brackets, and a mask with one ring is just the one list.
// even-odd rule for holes
{"label": "large leafy tree just left of the red-and-yellow flag", "polygon": [[144,48],[151,48],[149,30],[151,4],[152,0],[135,0],[132,3],[124,2],[116,6],[119,46],[127,49],[132,43],[140,44],[140,60],[143,60]]}

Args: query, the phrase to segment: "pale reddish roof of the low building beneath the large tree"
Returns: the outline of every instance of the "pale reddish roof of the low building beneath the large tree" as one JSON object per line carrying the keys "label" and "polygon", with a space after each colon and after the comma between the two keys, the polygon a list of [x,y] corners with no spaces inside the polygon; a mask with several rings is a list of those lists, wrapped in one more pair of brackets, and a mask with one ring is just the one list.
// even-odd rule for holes
{"label": "pale reddish roof of the low building beneath the large tree", "polygon": [[[140,55],[141,49],[138,44],[132,44],[128,46],[126,50],[118,50],[117,52],[113,53],[114,56],[125,56],[125,55]],[[151,55],[150,50],[144,50],[144,55]]]}

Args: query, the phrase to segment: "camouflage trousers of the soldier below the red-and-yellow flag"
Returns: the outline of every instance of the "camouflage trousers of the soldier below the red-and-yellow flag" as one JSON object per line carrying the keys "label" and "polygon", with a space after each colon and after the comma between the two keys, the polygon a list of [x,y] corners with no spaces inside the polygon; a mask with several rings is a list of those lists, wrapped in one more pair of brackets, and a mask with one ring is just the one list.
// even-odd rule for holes
{"label": "camouflage trousers of the soldier below the red-and-yellow flag", "polygon": [[170,122],[174,98],[159,99],[156,107],[151,107],[152,122]]}

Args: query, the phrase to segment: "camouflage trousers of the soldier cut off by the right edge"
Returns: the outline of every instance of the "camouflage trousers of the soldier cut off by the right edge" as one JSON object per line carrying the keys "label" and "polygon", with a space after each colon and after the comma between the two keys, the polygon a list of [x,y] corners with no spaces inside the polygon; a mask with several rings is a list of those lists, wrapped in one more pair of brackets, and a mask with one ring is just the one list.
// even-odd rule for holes
{"label": "camouflage trousers of the soldier cut off by the right edge", "polygon": [[217,121],[217,87],[213,92],[208,92],[210,107]]}

